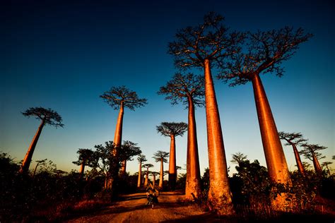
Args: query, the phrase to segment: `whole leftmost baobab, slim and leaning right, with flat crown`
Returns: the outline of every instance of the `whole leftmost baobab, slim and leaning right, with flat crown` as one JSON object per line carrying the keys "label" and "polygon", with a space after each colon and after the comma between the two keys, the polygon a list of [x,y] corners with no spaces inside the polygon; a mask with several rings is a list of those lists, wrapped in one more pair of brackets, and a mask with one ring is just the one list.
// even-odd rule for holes
{"label": "whole leftmost baobab, slim and leaning right, with flat crown", "polygon": [[37,132],[30,143],[28,152],[25,154],[23,159],[22,166],[20,167],[20,173],[28,173],[31,159],[33,158],[33,153],[40,135],[42,133],[42,128],[45,125],[54,126],[56,128],[63,127],[64,124],[61,123],[61,116],[52,109],[45,109],[43,107],[30,107],[29,109],[22,112],[24,116],[30,117],[34,116],[36,119],[41,120],[40,126],[37,129]]}

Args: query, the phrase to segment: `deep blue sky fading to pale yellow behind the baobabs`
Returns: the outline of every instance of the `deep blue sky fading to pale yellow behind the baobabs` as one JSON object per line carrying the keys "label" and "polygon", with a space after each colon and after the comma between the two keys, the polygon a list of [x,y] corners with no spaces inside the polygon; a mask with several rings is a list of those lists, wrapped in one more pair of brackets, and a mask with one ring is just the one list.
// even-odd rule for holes
{"label": "deep blue sky fading to pale yellow behind the baobabs", "polygon": [[[204,14],[225,16],[232,30],[302,27],[315,36],[283,63],[282,78],[262,76],[278,131],[301,132],[309,143],[334,152],[334,14],[331,1],[10,1],[1,2],[0,150],[23,159],[40,122],[20,114],[50,107],[64,128],[46,126],[33,156],[51,159],[58,169],[72,164],[78,148],[113,140],[118,111],[99,95],[126,85],[148,99],[146,107],[124,114],[123,140],[138,143],[148,163],[170,138],[156,133],[162,121],[185,121],[182,105],[171,106],[156,92],[176,72],[167,43],[176,31],[201,23]],[[196,71],[202,73],[202,71]],[[213,73],[216,75],[216,73]],[[225,153],[265,164],[252,85],[229,88],[215,81]],[[206,121],[196,110],[201,171],[208,167]],[[177,165],[186,164],[187,137],[177,137]],[[288,167],[293,151],[284,147]],[[304,160],[305,161],[305,160]],[[311,163],[311,162],[310,162]],[[137,171],[129,162],[127,171]],[[33,162],[32,166],[35,166]],[[233,171],[233,164],[228,162]],[[167,164],[165,169],[167,169]],[[335,167],[334,164],[332,166]],[[159,164],[153,168],[159,170]]]}

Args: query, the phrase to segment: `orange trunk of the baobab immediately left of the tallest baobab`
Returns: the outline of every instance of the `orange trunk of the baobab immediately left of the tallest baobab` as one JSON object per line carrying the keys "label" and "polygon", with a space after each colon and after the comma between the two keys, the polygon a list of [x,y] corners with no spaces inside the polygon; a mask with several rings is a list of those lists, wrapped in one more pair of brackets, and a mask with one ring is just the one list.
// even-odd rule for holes
{"label": "orange trunk of the baobab immediately left of the tallest baobab", "polygon": [[[201,193],[198,140],[196,138],[196,120],[194,103],[189,97],[189,117],[187,130],[187,175],[185,198],[198,198]],[[177,174],[177,171],[176,171]]]}

